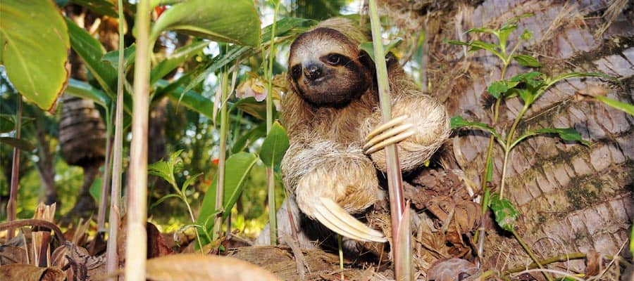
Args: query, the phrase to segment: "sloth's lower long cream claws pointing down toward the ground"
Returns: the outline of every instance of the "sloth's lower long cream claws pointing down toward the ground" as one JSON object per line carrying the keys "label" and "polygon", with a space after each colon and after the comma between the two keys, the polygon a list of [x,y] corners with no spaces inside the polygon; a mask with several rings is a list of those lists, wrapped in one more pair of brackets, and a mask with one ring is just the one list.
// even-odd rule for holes
{"label": "sloth's lower long cream claws pointing down toward the ground", "polygon": [[359,241],[387,242],[383,233],[361,223],[329,198],[319,197],[314,209],[313,216],[335,233]]}

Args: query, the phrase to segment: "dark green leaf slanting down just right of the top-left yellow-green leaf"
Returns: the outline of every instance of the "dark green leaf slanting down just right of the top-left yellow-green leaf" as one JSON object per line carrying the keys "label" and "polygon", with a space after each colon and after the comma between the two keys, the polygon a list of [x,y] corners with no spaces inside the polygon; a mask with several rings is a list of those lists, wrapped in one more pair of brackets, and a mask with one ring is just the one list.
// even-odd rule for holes
{"label": "dark green leaf slanting down just right of the top-left yellow-green leaf", "polygon": [[117,70],[110,63],[101,61],[101,58],[106,54],[104,46],[101,46],[97,39],[68,18],[66,18],[66,25],[68,25],[68,35],[70,35],[70,46],[82,58],[84,65],[90,70],[101,88],[108,96],[115,98]]}

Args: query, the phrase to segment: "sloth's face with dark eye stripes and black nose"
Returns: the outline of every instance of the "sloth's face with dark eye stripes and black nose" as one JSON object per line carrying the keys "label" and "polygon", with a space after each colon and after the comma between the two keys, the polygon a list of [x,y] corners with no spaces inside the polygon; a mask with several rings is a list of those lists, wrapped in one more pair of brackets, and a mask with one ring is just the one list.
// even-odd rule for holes
{"label": "sloth's face with dark eye stripes and black nose", "polygon": [[304,100],[340,107],[359,98],[370,84],[368,56],[341,32],[320,27],[293,42],[288,73]]}

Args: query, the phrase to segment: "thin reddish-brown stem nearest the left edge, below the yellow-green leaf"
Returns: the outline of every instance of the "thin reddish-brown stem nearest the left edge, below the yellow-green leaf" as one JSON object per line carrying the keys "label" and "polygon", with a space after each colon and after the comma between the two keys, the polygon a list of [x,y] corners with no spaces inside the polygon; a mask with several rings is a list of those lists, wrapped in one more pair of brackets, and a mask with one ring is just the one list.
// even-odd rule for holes
{"label": "thin reddish-brown stem nearest the left edge, below the yellow-green leaf", "polygon": [[[18,93],[18,111],[15,112],[15,138],[20,138],[22,131],[22,95]],[[20,183],[20,148],[13,147],[13,161],[11,162],[11,191],[6,204],[7,221],[15,221],[15,210],[18,207],[18,188]],[[13,238],[13,228],[8,229],[6,240]]]}

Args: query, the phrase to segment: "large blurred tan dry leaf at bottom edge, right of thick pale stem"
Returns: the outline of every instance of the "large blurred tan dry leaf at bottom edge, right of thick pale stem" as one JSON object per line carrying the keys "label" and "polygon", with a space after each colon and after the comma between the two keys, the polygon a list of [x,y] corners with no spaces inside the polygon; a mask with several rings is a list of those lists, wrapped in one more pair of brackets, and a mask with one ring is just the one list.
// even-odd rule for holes
{"label": "large blurred tan dry leaf at bottom edge, right of thick pale stem", "polygon": [[273,273],[228,256],[176,254],[147,261],[147,278],[171,280],[278,280]]}

